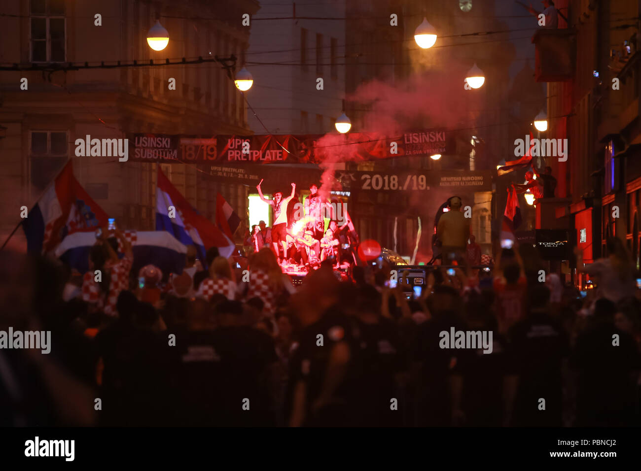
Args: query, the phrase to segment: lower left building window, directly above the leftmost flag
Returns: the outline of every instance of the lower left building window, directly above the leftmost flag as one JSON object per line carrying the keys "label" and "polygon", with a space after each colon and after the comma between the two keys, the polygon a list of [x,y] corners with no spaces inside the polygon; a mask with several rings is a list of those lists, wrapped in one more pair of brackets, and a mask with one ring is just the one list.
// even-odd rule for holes
{"label": "lower left building window, directly above the leftmost flag", "polygon": [[31,185],[42,191],[67,162],[67,131],[31,131],[29,138]]}

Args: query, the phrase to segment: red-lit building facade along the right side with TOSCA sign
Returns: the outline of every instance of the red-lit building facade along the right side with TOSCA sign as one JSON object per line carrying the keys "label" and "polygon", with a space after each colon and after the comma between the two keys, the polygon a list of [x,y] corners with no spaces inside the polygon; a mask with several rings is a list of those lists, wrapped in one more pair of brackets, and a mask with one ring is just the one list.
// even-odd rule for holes
{"label": "red-lit building facade along the right side with TOSCA sign", "polygon": [[[556,216],[549,223],[576,231],[575,244],[585,263],[607,256],[607,238],[619,238],[637,269],[639,5],[637,0],[557,1],[568,22],[560,19],[562,31],[552,33],[556,38],[550,44],[556,49],[539,51],[537,59],[537,67],[545,67],[556,54],[571,58],[565,76],[542,80],[548,82],[547,137],[570,143],[567,161],[550,160],[557,195],[565,201],[548,204]],[[543,206],[545,210],[545,202]],[[572,261],[566,263],[568,278],[574,275],[572,268]],[[575,281],[581,285],[585,277],[579,274]]]}

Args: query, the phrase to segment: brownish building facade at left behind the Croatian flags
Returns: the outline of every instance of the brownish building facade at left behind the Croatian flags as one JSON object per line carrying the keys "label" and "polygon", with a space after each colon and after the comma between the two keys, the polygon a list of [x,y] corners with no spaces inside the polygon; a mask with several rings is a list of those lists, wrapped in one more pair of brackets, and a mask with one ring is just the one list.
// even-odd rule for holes
{"label": "brownish building facade at left behind the Croatian flags", "polygon": [[[3,3],[7,15],[0,17],[0,27],[13,40],[0,45],[0,62],[53,70],[69,63],[158,63],[235,54],[240,67],[249,43],[242,14],[257,10],[254,0],[215,5],[196,0],[10,0]],[[169,32],[163,51],[153,51],[146,41],[156,19]],[[22,79],[28,88],[21,89]],[[175,79],[175,90],[170,79]],[[69,159],[81,185],[122,228],[154,228],[157,165],[210,220],[219,191],[245,215],[246,187],[213,183],[194,165],[120,162],[74,152],[76,139],[87,135],[249,133],[242,95],[218,63],[52,73],[4,70],[0,99],[0,125],[6,128],[0,140],[0,192],[8,202],[0,210],[3,239],[19,222],[19,208],[31,208]]]}

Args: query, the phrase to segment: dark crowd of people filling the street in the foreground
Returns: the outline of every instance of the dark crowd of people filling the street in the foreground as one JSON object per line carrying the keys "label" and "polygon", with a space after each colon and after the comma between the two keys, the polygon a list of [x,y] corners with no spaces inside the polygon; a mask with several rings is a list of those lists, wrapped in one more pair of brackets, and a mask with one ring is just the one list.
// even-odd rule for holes
{"label": "dark crowd of people filling the street in the foreground", "polygon": [[[402,272],[388,283],[394,267],[340,281],[331,258],[295,288],[269,247],[244,268],[190,247],[163,286],[103,232],[84,276],[0,253],[0,329],[52,339],[48,355],[0,350],[0,424],[639,424],[641,296],[617,239],[588,266],[586,297],[542,282],[531,245],[490,273],[433,267],[408,295]],[[491,332],[492,352],[444,348],[451,329]]]}

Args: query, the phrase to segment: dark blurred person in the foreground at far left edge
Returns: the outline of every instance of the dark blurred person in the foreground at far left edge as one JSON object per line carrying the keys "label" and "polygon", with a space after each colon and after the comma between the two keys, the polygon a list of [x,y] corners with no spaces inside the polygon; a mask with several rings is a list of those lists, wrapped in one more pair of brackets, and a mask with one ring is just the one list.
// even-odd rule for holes
{"label": "dark blurred person in the foreground at far left edge", "polygon": [[95,423],[95,390],[60,361],[55,320],[63,314],[63,283],[62,272],[50,261],[0,252],[0,331],[51,332],[48,353],[42,348],[0,349],[0,426]]}

